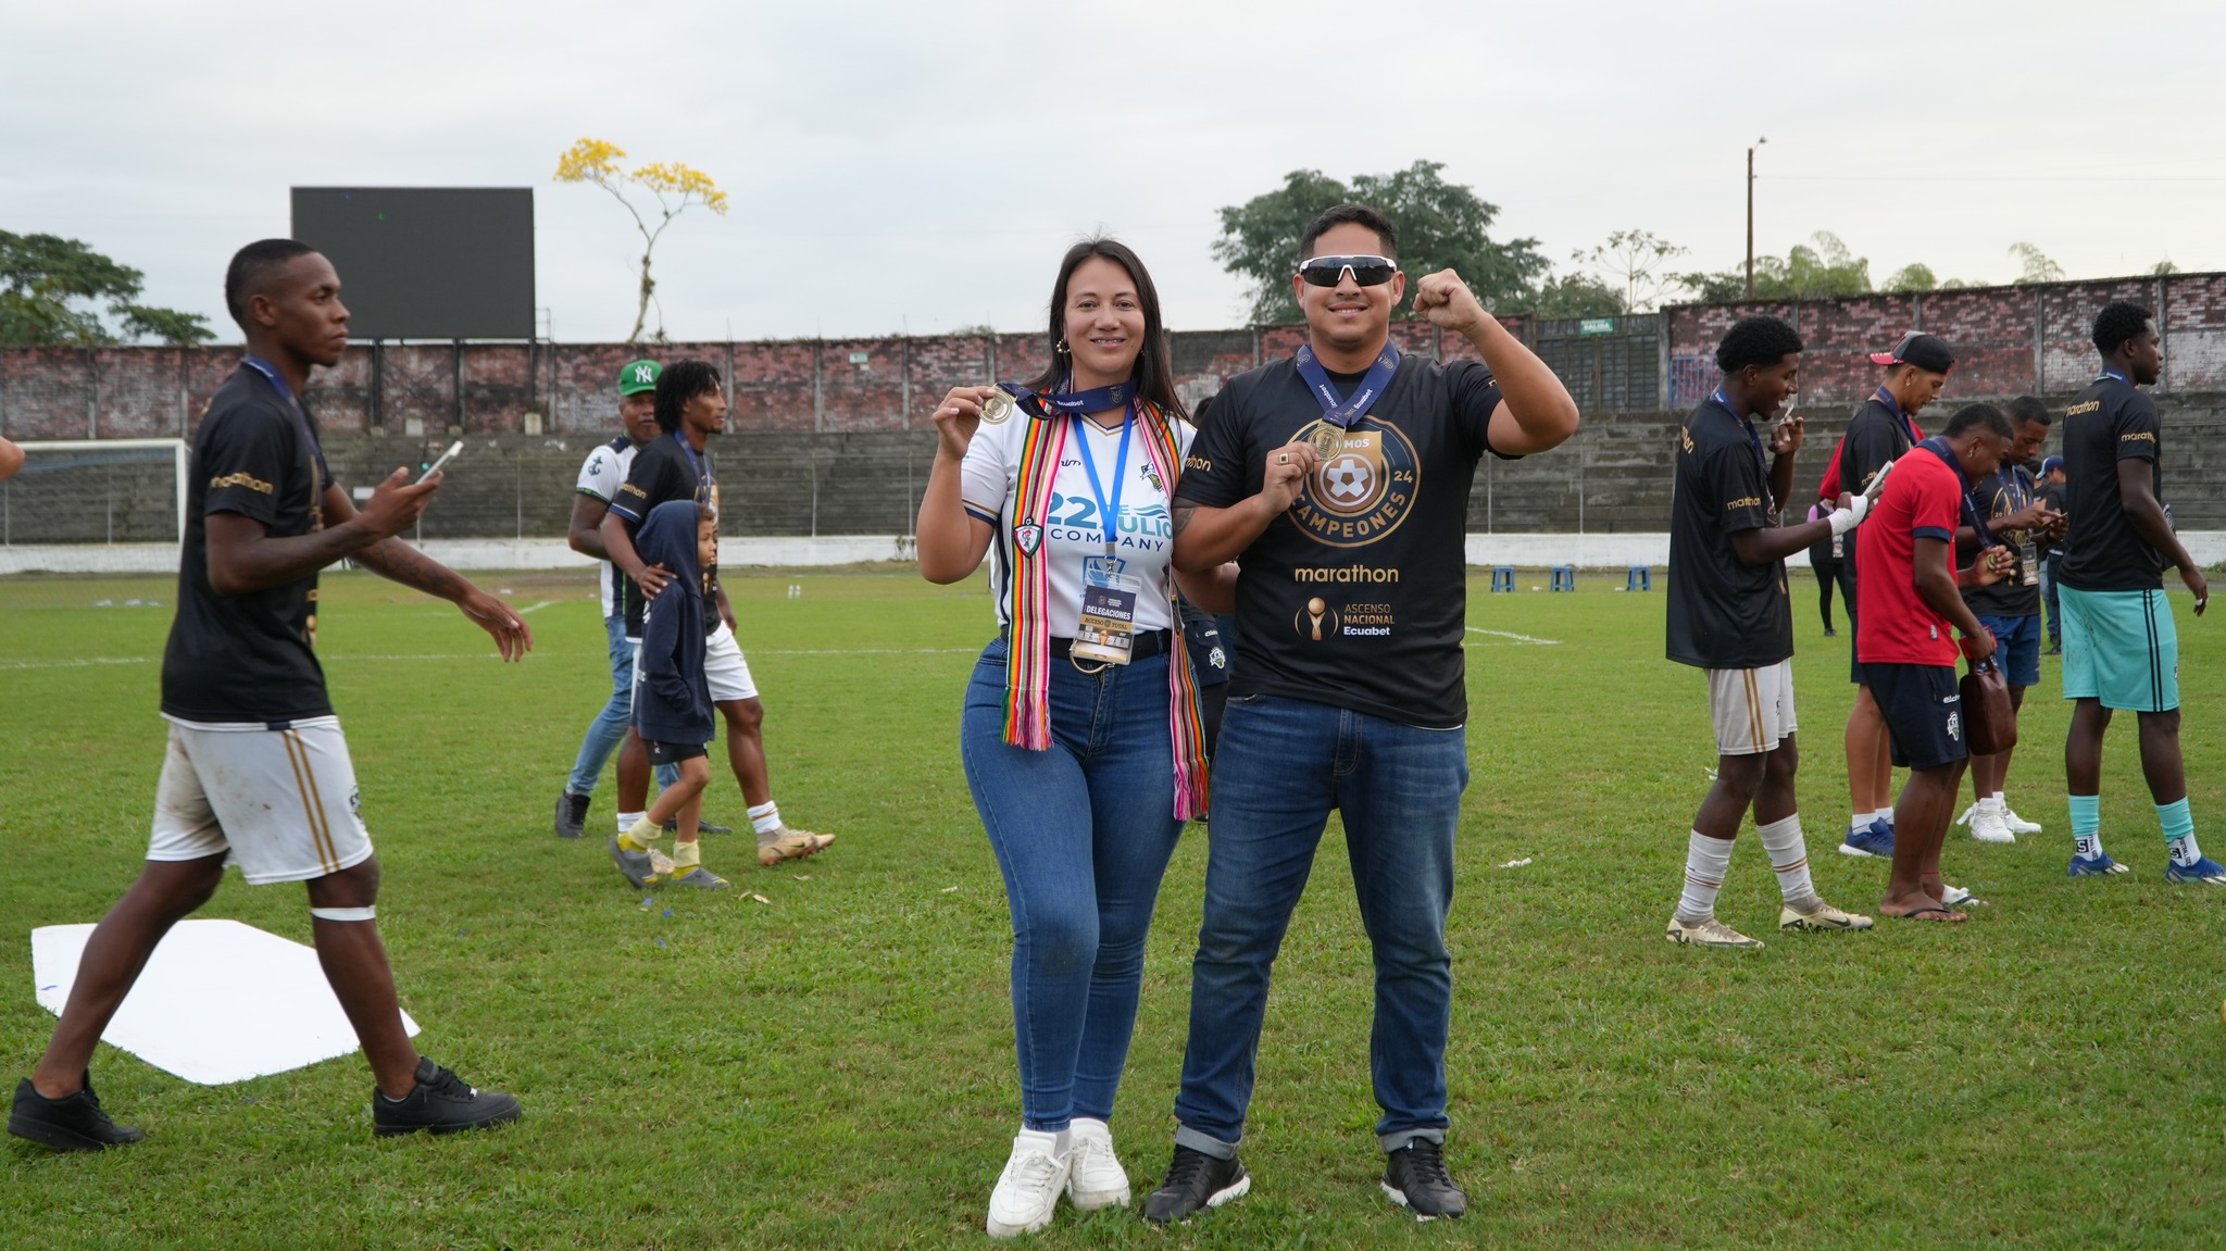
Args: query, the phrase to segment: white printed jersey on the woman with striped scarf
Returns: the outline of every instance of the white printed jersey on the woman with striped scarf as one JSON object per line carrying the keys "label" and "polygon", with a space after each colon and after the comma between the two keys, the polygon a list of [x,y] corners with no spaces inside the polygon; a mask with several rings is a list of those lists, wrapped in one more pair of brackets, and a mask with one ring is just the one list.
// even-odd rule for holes
{"label": "white printed jersey on the woman with striped scarf", "polygon": [[[966,463],[959,470],[959,494],[966,512],[979,516],[997,530],[991,543],[991,585],[997,592],[997,626],[1013,623],[1013,528],[1033,521],[1044,528],[1044,552],[1051,556],[1048,588],[1051,634],[1071,639],[1082,619],[1082,561],[1102,556],[1106,550],[1104,525],[1100,523],[1097,492],[1091,490],[1091,474],[1082,463],[1080,441],[1089,439],[1091,459],[1097,465],[1097,481],[1106,496],[1113,494],[1113,470],[1120,461],[1120,430],[1104,430],[1095,421],[1071,416],[1066,421],[1066,447],[1060,470],[1051,481],[1051,512],[1044,516],[1015,516],[1020,508],[1020,452],[1035,421],[1015,412],[1002,423],[982,423],[966,447]],[[1182,454],[1191,452],[1195,430],[1178,421],[1175,443]],[[1144,432],[1129,439],[1129,465],[1120,487],[1120,523],[1113,534],[1113,554],[1126,561],[1120,572],[1142,579],[1144,590],[1135,599],[1135,628],[1169,630],[1175,612],[1166,603],[1162,577],[1175,554],[1175,514],[1169,510],[1175,483],[1162,483],[1144,447]]]}

